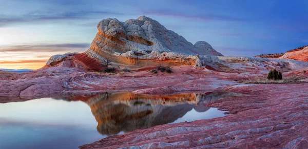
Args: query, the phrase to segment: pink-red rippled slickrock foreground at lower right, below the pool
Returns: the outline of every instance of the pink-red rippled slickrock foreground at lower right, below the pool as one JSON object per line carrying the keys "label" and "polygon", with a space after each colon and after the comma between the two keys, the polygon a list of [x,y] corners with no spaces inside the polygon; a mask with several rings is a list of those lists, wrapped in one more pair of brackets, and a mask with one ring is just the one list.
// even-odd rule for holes
{"label": "pink-red rippled slickrock foreground at lower right, below the pool", "polygon": [[308,94],[303,92],[308,90],[307,84],[237,85],[225,89],[249,96],[206,105],[234,115],[158,125],[81,148],[308,148]]}

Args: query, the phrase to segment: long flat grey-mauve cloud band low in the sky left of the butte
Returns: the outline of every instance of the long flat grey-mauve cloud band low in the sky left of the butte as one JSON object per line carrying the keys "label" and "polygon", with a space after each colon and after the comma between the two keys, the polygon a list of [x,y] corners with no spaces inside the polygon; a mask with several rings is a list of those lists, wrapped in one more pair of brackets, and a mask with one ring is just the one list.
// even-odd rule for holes
{"label": "long flat grey-mauve cloud band low in the sky left of the butte", "polygon": [[0,52],[83,52],[90,47],[90,44],[39,44],[39,45],[19,45],[2,46]]}

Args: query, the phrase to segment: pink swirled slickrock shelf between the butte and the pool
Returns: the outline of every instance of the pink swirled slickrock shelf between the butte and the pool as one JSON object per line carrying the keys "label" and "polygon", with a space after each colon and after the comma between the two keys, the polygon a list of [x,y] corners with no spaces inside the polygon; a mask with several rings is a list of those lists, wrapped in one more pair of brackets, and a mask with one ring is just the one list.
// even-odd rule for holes
{"label": "pink swirled slickrock shelf between the butte and the pool", "polygon": [[[51,67],[32,72],[7,75],[0,79],[0,102],[23,101],[39,97],[54,97],[60,93],[86,91],[133,91],[138,89],[165,89],[168,92],[216,90],[237,84],[215,72],[174,67],[174,73],[151,74],[148,71],[107,75],[87,72],[79,68]],[[141,91],[137,91],[141,92]],[[145,93],[145,92],[143,92]],[[151,92],[155,94],[155,91]],[[18,97],[18,100],[16,99]]]}

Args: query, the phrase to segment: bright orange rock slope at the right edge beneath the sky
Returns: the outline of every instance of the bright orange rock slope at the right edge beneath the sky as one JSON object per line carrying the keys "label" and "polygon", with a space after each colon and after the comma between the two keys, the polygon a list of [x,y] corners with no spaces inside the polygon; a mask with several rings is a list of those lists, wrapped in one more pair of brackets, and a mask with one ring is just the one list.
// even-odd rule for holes
{"label": "bright orange rock slope at the right edge beneath the sky", "polygon": [[308,47],[286,52],[280,58],[308,61]]}

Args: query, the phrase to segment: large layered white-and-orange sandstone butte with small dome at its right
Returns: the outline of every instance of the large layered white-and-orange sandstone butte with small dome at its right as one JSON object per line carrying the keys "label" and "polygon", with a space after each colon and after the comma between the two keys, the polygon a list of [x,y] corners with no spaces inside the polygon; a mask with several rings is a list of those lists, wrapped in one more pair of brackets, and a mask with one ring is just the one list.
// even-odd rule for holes
{"label": "large layered white-and-orange sandstone butte with small dome at its right", "polygon": [[[103,19],[91,47],[84,53],[53,56],[46,67],[84,67],[100,69],[100,61],[109,59],[118,67],[194,65],[196,55],[223,56],[205,41],[192,45],[174,31],[146,16],[120,22]],[[66,58],[67,57],[67,58]],[[70,59],[73,62],[68,62]],[[62,63],[66,61],[65,63]],[[59,65],[59,63],[62,63]]]}

